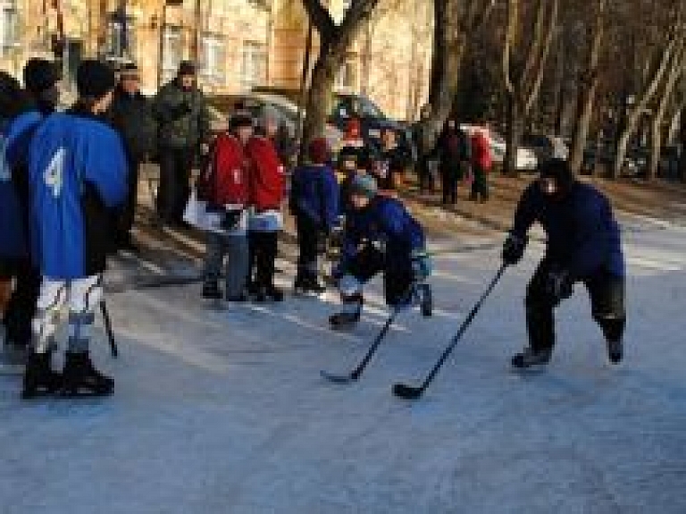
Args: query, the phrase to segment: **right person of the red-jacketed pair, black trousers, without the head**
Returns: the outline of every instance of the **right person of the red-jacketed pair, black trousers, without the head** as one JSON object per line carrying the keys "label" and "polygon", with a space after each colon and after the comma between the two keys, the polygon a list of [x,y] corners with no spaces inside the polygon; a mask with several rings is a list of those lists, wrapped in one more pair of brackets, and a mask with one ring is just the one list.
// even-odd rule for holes
{"label": "right person of the red-jacketed pair, black trousers, without the head", "polygon": [[248,217],[248,291],[257,302],[281,301],[274,285],[279,232],[283,226],[283,165],[271,139],[253,136],[246,146],[249,162],[250,204]]}

